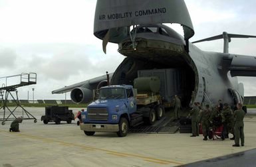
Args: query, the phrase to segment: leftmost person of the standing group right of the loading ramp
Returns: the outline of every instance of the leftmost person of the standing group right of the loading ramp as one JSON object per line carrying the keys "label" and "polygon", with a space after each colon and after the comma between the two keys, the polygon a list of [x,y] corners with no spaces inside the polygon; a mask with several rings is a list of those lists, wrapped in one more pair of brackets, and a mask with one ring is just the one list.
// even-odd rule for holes
{"label": "leftmost person of the standing group right of the loading ramp", "polygon": [[192,135],[190,137],[196,137],[199,136],[199,103],[195,102],[194,103],[194,107],[192,110],[190,110],[190,114],[191,115],[191,121],[192,121]]}

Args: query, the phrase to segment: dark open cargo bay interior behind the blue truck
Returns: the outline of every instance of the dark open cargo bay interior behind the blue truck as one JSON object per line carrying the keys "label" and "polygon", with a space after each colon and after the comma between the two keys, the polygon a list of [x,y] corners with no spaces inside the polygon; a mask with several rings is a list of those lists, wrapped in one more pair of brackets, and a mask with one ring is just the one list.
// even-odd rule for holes
{"label": "dark open cargo bay interior behind the blue truck", "polygon": [[[134,58],[125,58],[112,76],[111,84],[134,85],[133,81],[138,77],[157,76],[160,78],[160,95],[166,103],[172,103],[174,95],[179,95],[182,106],[188,107],[192,99],[192,91],[195,89],[195,73],[186,63],[172,63],[172,58],[163,62],[152,62]],[[175,62],[175,63],[174,63]]]}

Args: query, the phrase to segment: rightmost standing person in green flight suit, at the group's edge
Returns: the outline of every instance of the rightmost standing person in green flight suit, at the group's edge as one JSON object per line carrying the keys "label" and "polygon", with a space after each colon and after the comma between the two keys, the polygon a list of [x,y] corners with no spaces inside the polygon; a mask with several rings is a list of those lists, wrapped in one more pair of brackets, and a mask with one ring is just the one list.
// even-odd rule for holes
{"label": "rightmost standing person in green flight suit, at the group's edge", "polygon": [[233,146],[240,146],[239,140],[241,139],[241,146],[245,144],[245,135],[243,133],[243,118],[245,117],[245,111],[242,109],[243,105],[241,103],[237,104],[237,110],[234,112],[235,117],[235,144]]}

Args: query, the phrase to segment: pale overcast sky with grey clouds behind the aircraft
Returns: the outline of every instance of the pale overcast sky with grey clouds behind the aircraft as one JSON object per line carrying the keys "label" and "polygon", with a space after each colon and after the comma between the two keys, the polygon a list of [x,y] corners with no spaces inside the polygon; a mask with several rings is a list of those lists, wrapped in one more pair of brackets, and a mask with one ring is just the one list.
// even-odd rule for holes
{"label": "pale overcast sky with grey clouds behind the aircraft", "polygon": [[[195,35],[190,41],[221,34],[256,35],[256,1],[185,0]],[[114,72],[124,56],[117,44],[93,35],[96,0],[0,0],[0,77],[36,72],[37,85],[20,87],[19,99],[64,99],[51,91]],[[180,30],[180,32],[182,32]],[[256,39],[233,39],[229,52],[256,56]],[[223,52],[223,40],[197,44]],[[256,78],[239,78],[245,95],[256,95]],[[69,93],[66,94],[70,99]]]}

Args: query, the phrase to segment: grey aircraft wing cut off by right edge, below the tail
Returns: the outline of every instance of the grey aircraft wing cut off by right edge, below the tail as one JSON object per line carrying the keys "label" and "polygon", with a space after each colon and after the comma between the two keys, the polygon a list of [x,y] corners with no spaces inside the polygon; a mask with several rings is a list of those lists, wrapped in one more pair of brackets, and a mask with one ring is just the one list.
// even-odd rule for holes
{"label": "grey aircraft wing cut off by right edge, below the tail", "polygon": [[230,70],[231,76],[256,76],[256,57],[237,54],[229,54],[225,68]]}

